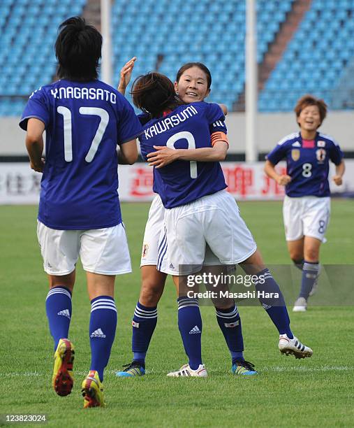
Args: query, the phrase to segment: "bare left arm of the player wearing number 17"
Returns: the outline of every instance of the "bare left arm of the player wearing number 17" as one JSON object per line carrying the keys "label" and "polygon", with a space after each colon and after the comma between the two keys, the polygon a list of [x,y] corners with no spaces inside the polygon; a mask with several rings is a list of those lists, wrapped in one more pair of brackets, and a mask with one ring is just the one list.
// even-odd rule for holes
{"label": "bare left arm of the player wearing number 17", "polygon": [[27,122],[26,148],[31,169],[37,172],[43,172],[44,168],[42,159],[44,129],[45,124],[35,117],[31,117]]}

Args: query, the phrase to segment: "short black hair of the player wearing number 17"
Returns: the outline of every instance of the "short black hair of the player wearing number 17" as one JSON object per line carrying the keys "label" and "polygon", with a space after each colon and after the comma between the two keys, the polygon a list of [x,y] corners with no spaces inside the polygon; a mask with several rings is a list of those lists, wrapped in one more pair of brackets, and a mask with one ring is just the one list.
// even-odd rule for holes
{"label": "short black hair of the player wearing number 17", "polygon": [[59,78],[86,82],[98,77],[102,36],[79,16],[70,17],[59,25],[55,42]]}

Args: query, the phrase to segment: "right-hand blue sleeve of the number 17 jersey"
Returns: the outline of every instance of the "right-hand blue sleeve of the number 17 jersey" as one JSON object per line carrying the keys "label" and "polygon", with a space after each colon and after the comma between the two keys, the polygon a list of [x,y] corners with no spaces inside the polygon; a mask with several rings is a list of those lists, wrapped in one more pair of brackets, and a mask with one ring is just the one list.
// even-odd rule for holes
{"label": "right-hand blue sleeve of the number 17 jersey", "polygon": [[[120,95],[120,94],[119,94]],[[142,126],[131,104],[123,97],[120,97],[119,124],[117,129],[117,144],[131,141],[142,133]]]}

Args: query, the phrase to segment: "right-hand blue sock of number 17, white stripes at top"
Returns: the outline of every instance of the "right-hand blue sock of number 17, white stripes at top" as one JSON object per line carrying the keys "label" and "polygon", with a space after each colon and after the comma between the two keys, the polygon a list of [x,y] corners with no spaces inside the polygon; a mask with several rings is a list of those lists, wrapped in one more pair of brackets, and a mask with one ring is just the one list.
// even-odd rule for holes
{"label": "right-hand blue sock of number 17, white stripes at top", "polygon": [[117,327],[117,309],[115,299],[99,296],[91,300],[89,335],[91,345],[90,370],[98,371],[103,382],[103,370],[110,359],[110,350],[115,340]]}

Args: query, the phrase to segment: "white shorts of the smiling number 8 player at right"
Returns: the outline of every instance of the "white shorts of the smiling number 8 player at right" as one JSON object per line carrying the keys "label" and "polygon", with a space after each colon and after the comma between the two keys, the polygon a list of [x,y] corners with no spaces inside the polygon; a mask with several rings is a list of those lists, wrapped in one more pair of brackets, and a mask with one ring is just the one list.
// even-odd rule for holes
{"label": "white shorts of the smiling number 8 player at right", "polygon": [[330,204],[330,197],[286,196],[283,202],[286,241],[296,241],[302,236],[325,241],[325,231],[330,222]]}

